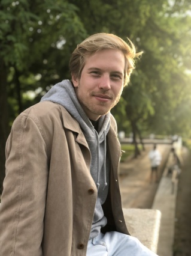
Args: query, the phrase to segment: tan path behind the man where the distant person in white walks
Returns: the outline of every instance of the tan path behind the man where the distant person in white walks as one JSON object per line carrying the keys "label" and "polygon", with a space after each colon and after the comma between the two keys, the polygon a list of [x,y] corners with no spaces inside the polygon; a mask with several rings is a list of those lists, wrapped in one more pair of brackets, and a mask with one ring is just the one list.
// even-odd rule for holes
{"label": "tan path behind the man where the distant person in white walks", "polygon": [[[120,163],[120,191],[122,205],[125,208],[150,209],[159,183],[150,183],[150,161],[148,151],[153,145],[145,145],[145,152],[137,159]],[[160,175],[166,163],[171,145],[159,144],[157,149],[162,154]]]}

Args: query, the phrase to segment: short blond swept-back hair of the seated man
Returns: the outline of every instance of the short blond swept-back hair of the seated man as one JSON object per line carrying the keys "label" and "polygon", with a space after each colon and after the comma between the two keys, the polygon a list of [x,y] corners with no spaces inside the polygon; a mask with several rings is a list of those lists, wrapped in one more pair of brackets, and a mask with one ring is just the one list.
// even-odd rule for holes
{"label": "short blond swept-back hair of the seated man", "polygon": [[86,64],[86,58],[103,49],[117,49],[125,56],[124,86],[128,84],[132,70],[135,69],[135,58],[143,52],[136,53],[135,46],[128,38],[126,43],[114,34],[98,33],[90,35],[77,45],[69,61],[69,69],[75,78],[81,77],[81,72]]}

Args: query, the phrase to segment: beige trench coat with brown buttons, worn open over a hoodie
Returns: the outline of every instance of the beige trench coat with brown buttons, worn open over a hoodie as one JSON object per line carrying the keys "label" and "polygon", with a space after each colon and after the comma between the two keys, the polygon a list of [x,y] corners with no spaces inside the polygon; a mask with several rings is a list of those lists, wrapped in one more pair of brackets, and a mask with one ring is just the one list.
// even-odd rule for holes
{"label": "beige trench coat with brown buttons, worn open over a hoodie", "polygon": [[[105,231],[129,234],[117,177],[120,144],[111,118]],[[86,255],[97,192],[90,175],[89,147],[77,121],[52,102],[26,109],[14,121],[6,157],[0,255]]]}

